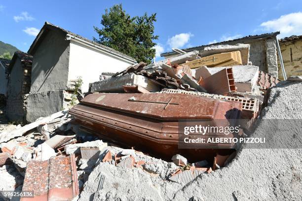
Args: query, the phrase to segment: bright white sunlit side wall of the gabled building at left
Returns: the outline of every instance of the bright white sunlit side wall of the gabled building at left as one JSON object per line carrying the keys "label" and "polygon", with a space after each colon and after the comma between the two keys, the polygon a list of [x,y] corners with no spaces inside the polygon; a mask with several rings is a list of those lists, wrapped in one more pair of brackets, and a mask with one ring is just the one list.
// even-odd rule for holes
{"label": "bright white sunlit side wall of the gabled building at left", "polygon": [[89,83],[100,80],[102,72],[116,73],[129,65],[131,63],[71,40],[68,80],[82,77],[82,92],[88,91]]}

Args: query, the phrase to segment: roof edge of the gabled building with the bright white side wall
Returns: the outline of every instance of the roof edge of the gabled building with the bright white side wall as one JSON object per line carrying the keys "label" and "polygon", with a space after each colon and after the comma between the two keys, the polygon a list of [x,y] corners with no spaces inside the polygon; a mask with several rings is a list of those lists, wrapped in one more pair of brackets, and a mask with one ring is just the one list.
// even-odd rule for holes
{"label": "roof edge of the gabled building with the bright white side wall", "polygon": [[29,48],[29,50],[28,50],[28,53],[32,54],[32,51],[34,50],[34,47],[36,46],[38,40],[41,38],[41,34],[42,34],[43,31],[44,31],[45,29],[47,29],[47,28],[57,28],[57,29],[59,29],[59,30],[65,32],[66,35],[68,34],[68,35],[70,35],[70,36],[76,37],[77,39],[84,40],[84,41],[86,41],[86,42],[88,42],[88,43],[91,43],[91,44],[92,44],[91,46],[99,46],[99,47],[103,48],[105,51],[108,51],[108,52],[110,52],[110,53],[116,54],[116,55],[118,55],[118,56],[120,56],[120,57],[126,58],[126,59],[128,59],[128,60],[133,61],[133,62],[136,62],[136,60],[135,60],[134,58],[132,58],[132,57],[130,57],[130,56],[128,56],[128,55],[126,55],[126,54],[124,54],[124,53],[122,53],[122,52],[119,52],[119,51],[117,51],[117,50],[115,50],[115,49],[113,49],[113,48],[111,48],[111,47],[107,47],[107,46],[102,45],[102,44],[100,44],[100,43],[97,43],[97,42],[95,42],[95,41],[86,39],[86,38],[84,38],[84,37],[82,37],[82,36],[79,36],[79,35],[77,35],[77,34],[75,34],[75,33],[73,33],[73,32],[70,32],[70,31],[68,31],[68,30],[65,30],[65,29],[63,29],[63,28],[61,28],[61,27],[59,27],[59,26],[57,26],[57,25],[51,24],[51,23],[49,23],[49,22],[45,22],[44,26],[41,28],[40,32],[38,33],[37,38],[34,40],[34,42],[32,43],[32,45],[30,46],[30,48]]}

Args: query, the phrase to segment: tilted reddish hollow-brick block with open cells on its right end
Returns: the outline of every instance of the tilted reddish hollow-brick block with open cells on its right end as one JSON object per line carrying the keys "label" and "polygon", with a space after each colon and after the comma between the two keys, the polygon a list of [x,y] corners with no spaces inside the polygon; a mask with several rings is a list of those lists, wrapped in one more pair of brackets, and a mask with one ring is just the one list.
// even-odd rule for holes
{"label": "tilted reddish hollow-brick block with open cells on its right end", "polygon": [[226,95],[236,91],[233,71],[231,68],[223,69],[212,76],[202,80],[203,86],[208,93]]}

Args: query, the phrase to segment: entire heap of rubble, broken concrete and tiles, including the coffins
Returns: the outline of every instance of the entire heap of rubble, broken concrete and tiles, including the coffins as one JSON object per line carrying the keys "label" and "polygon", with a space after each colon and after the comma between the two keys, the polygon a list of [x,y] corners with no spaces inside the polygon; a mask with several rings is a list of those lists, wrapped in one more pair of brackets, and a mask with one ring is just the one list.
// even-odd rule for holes
{"label": "entire heap of rubble, broken concrete and tiles, including the coffins", "polygon": [[[1,124],[0,199],[15,199],[5,196],[10,190],[35,191],[24,201],[301,200],[301,149],[181,147],[182,121],[241,124],[227,135],[246,138],[266,133],[273,126],[266,120],[302,119],[301,77],[281,81],[260,71],[249,48],[209,46],[102,73],[69,111]],[[279,137],[300,142],[297,130]]]}

